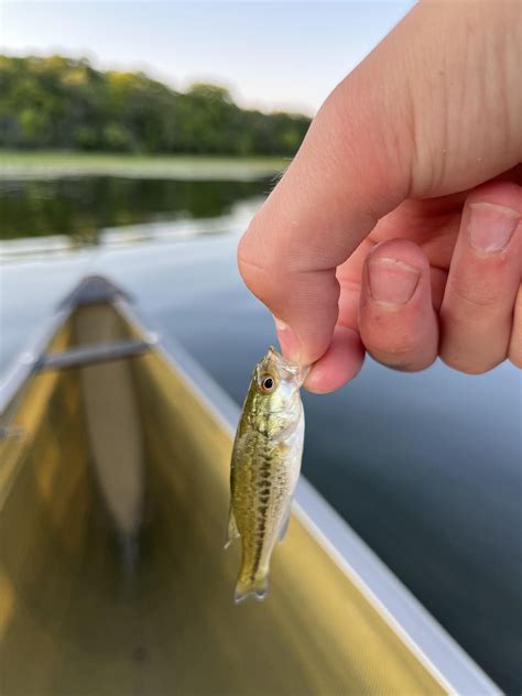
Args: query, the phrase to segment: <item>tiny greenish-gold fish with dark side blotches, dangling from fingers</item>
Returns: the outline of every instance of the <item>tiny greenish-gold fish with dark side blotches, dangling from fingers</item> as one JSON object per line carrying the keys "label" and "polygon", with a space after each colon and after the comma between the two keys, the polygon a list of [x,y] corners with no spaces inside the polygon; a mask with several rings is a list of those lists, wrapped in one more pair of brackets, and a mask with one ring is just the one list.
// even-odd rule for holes
{"label": "tiny greenish-gold fish with dark side blotches, dangling from fingers", "polygon": [[307,372],[270,347],[250,381],[233,443],[225,546],[241,539],[236,602],[265,596],[270,557],[286,532],[303,453],[300,388]]}

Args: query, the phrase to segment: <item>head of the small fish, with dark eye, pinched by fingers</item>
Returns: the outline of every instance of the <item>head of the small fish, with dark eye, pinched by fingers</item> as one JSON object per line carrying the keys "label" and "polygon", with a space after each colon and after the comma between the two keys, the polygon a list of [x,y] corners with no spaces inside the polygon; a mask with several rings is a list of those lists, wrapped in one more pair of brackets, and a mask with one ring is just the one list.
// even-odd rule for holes
{"label": "head of the small fish, with dark eye, pinched by fingers", "polygon": [[260,417],[276,416],[290,425],[301,415],[300,389],[308,369],[283,358],[272,346],[258,362],[252,377],[253,412]]}

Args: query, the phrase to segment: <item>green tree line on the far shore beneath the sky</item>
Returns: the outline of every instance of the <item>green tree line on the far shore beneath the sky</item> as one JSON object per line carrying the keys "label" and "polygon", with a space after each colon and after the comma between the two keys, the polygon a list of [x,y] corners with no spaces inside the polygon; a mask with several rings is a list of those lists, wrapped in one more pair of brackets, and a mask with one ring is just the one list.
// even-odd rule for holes
{"label": "green tree line on the far shore beneath the sky", "polygon": [[301,115],[238,107],[222,87],[181,93],[143,73],[64,56],[0,56],[0,148],[293,155]]}

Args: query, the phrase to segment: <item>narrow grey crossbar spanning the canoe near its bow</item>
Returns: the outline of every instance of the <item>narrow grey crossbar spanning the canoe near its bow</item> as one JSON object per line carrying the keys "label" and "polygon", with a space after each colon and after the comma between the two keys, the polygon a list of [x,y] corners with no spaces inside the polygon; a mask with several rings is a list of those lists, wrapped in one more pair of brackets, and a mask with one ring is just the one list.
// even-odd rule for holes
{"label": "narrow grey crossbar spanning the canoe near its bow", "polygon": [[109,362],[140,356],[153,348],[155,341],[150,340],[116,340],[68,348],[59,352],[48,352],[39,358],[34,366],[35,372],[44,370],[66,370],[79,368],[97,362]]}

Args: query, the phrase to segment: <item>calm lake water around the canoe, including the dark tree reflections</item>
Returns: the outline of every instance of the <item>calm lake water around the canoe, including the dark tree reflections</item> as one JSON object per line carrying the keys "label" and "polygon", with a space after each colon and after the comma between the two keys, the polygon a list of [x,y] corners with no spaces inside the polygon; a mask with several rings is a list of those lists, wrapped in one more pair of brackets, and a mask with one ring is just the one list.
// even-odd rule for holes
{"label": "calm lake water around the canoe, including the dark tree reflections", "polygon": [[[89,177],[0,182],[0,372],[89,273],[134,296],[242,401],[275,341],[236,269],[262,182]],[[521,376],[367,360],[335,394],[304,396],[304,472],[504,689],[522,654]]]}

